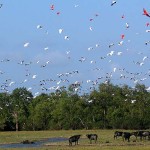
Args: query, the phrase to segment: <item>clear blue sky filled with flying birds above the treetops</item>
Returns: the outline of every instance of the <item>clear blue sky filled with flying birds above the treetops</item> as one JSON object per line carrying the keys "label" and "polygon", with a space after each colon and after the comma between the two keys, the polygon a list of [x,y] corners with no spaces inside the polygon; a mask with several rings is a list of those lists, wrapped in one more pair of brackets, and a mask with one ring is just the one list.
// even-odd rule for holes
{"label": "clear blue sky filled with flying birds above the treetops", "polygon": [[150,0],[0,0],[0,92],[150,86]]}

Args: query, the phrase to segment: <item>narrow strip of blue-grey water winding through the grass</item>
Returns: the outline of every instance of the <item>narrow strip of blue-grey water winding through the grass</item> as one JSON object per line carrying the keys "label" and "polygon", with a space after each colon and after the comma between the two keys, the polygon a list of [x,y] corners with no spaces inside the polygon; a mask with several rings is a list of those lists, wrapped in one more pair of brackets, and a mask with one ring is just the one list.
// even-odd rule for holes
{"label": "narrow strip of blue-grey water winding through the grass", "polygon": [[0,144],[0,148],[28,148],[28,147],[42,147],[49,142],[62,142],[68,140],[67,138],[57,137],[49,138],[41,141],[36,141],[33,144],[13,143],[13,144]]}

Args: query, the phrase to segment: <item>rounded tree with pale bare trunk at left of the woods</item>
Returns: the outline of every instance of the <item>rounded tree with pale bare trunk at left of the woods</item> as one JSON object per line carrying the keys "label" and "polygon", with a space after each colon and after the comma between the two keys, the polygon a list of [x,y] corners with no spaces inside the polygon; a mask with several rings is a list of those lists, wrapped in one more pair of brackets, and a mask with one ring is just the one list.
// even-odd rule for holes
{"label": "rounded tree with pale bare trunk at left of the woods", "polygon": [[[11,115],[14,118],[16,131],[25,129],[29,117],[29,104],[33,95],[26,88],[16,88],[11,94]],[[20,124],[20,126],[19,126]]]}

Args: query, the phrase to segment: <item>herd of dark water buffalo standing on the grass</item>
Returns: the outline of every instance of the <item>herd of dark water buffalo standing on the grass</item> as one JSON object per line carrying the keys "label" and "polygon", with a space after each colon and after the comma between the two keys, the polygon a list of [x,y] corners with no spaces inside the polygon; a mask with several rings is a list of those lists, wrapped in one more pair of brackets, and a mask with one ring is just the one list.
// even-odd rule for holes
{"label": "herd of dark water buffalo standing on the grass", "polygon": [[[135,136],[136,140],[138,137],[140,140],[146,140],[146,139],[150,140],[150,131],[135,131],[135,132],[115,131],[114,132],[114,139],[115,140],[118,137],[122,137],[123,141],[130,142],[131,136]],[[71,136],[69,138],[69,145],[72,146],[72,143],[75,143],[75,145],[78,145],[78,141],[79,141],[80,137],[81,137],[81,135]],[[97,139],[98,139],[97,134],[87,134],[86,137],[89,139],[90,144],[92,144],[92,141],[94,141],[94,143],[96,143]]]}

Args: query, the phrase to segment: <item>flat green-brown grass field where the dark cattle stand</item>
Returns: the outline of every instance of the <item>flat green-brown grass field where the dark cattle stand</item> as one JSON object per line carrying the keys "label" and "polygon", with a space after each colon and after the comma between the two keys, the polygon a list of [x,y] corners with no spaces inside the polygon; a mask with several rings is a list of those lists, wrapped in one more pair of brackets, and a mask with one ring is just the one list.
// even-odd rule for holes
{"label": "flat green-brown grass field where the dark cattle stand", "polygon": [[[98,134],[97,143],[89,143],[86,134]],[[51,137],[69,138],[72,135],[81,134],[79,145],[69,146],[68,141],[46,143],[39,148],[25,148],[26,150],[150,150],[150,141],[139,139],[135,142],[132,136],[130,142],[123,142],[122,138],[114,140],[114,130],[62,130],[62,131],[19,131],[0,132],[0,144],[20,143],[24,140],[39,141]],[[20,148],[0,148],[9,150],[19,150]]]}

